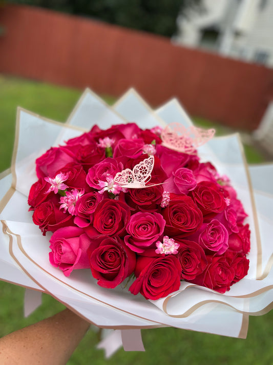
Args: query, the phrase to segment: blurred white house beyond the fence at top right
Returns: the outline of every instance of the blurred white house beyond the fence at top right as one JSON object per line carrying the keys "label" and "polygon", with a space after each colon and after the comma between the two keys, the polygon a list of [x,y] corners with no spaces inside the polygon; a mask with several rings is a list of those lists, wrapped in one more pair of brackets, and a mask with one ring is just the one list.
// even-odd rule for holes
{"label": "blurred white house beyond the fence at top right", "polygon": [[258,62],[257,52],[266,52],[265,64],[273,66],[273,0],[204,0],[203,4],[205,13],[191,11],[187,20],[178,18],[176,42],[199,47],[202,30],[215,27],[219,38],[214,51],[249,62]]}

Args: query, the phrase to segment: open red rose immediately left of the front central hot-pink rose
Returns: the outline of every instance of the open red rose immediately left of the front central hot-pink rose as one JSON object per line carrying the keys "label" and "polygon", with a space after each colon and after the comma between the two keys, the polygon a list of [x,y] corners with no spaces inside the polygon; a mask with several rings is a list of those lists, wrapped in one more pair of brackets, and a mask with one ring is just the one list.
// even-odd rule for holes
{"label": "open red rose immediately left of the front central hot-pink rose", "polygon": [[119,200],[104,199],[96,207],[93,226],[103,235],[124,236],[130,219],[130,209]]}

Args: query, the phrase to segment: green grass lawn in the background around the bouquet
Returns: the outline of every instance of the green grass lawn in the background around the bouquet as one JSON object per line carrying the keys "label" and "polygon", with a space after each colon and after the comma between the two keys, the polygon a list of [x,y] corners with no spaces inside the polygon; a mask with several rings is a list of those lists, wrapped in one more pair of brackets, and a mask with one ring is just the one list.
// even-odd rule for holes
{"label": "green grass lawn in the background around the bouquet", "polygon": [[[42,116],[65,121],[81,93],[82,90],[0,76],[0,171],[10,166],[18,105]],[[106,100],[113,101],[111,98]],[[197,123],[211,126],[208,121],[197,120]],[[225,131],[225,128],[221,129],[222,133]],[[246,148],[249,162],[262,161],[255,149],[249,146]],[[0,282],[0,293],[0,337],[64,308],[55,299],[44,295],[43,305],[28,318],[23,318],[24,288]],[[146,352],[119,350],[109,360],[104,359],[102,350],[95,349],[97,336],[89,331],[68,364],[271,365],[272,323],[273,312],[261,317],[250,317],[245,340],[175,328],[142,330]]]}

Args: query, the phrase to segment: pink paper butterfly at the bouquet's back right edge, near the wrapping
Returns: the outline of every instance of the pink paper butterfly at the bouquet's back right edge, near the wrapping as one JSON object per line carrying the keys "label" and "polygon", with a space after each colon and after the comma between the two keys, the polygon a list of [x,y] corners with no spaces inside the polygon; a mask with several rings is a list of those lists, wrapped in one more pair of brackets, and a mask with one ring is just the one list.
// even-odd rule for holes
{"label": "pink paper butterfly at the bouquet's back right edge, near the wrapping", "polygon": [[161,132],[162,145],[178,152],[194,154],[197,147],[213,138],[214,133],[215,129],[186,128],[179,123],[171,123]]}

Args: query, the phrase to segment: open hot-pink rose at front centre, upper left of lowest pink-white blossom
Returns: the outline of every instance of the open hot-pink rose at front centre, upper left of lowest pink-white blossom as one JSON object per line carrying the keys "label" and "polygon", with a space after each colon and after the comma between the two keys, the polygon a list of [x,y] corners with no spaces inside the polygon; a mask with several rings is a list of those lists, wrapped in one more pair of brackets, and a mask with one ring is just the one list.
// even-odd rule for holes
{"label": "open hot-pink rose at front centre, upper left of lowest pink-white blossom", "polygon": [[143,253],[163,234],[165,220],[159,213],[136,213],[131,216],[124,242],[133,251]]}

